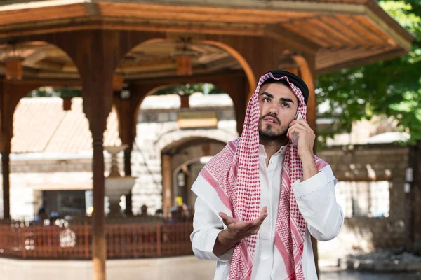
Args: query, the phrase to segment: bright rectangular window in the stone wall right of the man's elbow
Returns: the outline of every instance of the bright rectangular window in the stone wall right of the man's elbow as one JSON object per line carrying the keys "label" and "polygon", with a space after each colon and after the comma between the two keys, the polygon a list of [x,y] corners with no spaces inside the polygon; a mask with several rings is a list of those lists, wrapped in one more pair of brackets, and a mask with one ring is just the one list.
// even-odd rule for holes
{"label": "bright rectangular window in the stone wall right of the man's elbow", "polygon": [[389,216],[389,181],[338,182],[336,200],[345,217]]}

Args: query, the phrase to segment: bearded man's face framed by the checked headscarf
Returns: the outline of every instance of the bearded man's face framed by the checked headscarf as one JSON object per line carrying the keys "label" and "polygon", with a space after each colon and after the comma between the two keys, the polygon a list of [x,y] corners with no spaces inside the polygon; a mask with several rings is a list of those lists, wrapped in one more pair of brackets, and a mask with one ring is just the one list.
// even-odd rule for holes
{"label": "bearded man's face framed by the checked headscarf", "polygon": [[298,99],[293,90],[279,83],[262,85],[259,105],[259,134],[274,139],[285,136],[298,109]]}

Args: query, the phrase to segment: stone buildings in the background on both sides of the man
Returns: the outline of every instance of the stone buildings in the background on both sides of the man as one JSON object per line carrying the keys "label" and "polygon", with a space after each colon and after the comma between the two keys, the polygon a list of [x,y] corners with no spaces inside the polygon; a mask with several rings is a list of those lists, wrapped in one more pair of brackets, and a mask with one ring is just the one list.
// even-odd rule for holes
{"label": "stone buildings in the background on both sides of the man", "polygon": [[[192,94],[189,108],[180,106],[180,97],[175,94],[150,96],[142,102],[131,156],[135,186],[131,195],[121,193],[127,199],[131,197],[133,214],[139,213],[142,204],[147,205],[149,214],[162,209],[164,177],[173,186],[169,194],[173,205],[177,197],[193,205],[189,187],[197,174],[210,156],[238,137],[232,100],[227,94]],[[339,181],[337,199],[346,216],[337,239],[319,242],[322,257],[340,256],[353,249],[406,245],[409,221],[404,187],[410,148],[373,143],[394,130],[383,126],[385,122],[389,120],[356,123],[351,134],[331,139],[330,146],[318,153],[333,167]],[[92,150],[81,99],[72,100],[71,111],[62,111],[60,98],[22,99],[14,127],[12,216],[34,216],[43,202],[49,211],[84,214],[86,191],[92,188]],[[113,110],[107,121],[105,146],[119,145]],[[107,173],[110,167],[106,156]],[[122,155],[119,162],[123,172]]]}

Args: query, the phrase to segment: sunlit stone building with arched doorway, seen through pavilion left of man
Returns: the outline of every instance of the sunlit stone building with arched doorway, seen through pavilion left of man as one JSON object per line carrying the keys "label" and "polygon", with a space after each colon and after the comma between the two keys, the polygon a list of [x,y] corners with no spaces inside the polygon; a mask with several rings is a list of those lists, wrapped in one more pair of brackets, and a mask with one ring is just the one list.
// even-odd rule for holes
{"label": "sunlit stone building with arched doorway, seen through pavilion left of man", "polygon": [[[30,218],[43,204],[48,212],[62,215],[86,213],[86,191],[92,189],[92,139],[81,103],[81,98],[73,98],[72,110],[63,111],[60,98],[20,101],[11,141],[13,218]],[[131,157],[132,176],[136,178],[131,195],[133,214],[140,212],[142,204],[147,205],[149,214],[162,209],[162,155],[170,160],[170,169],[164,176],[174,186],[171,201],[180,196],[192,205],[194,197],[187,191],[188,186],[179,192],[177,178],[186,172],[192,172],[189,178],[196,176],[208,160],[206,157],[238,137],[232,100],[227,94],[192,94],[189,103],[191,108],[180,109],[178,95],[151,96],[142,102]],[[119,145],[116,112],[112,110],[104,146]],[[105,156],[107,175],[110,159],[108,153]],[[122,155],[119,165],[123,173]]]}

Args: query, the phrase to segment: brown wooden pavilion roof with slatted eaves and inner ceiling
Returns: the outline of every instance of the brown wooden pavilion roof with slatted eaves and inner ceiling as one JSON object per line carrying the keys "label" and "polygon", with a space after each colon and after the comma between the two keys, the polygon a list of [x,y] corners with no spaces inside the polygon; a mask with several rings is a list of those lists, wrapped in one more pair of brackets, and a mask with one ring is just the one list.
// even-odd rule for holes
{"label": "brown wooden pavilion roof with slatted eaves and inner ceiling", "polygon": [[[211,4],[210,4],[211,3]],[[50,0],[2,1],[0,42],[11,36],[82,28],[246,34],[288,38],[316,55],[317,73],[328,73],[405,54],[408,31],[373,0]],[[175,76],[176,41],[138,45],[120,63],[125,78]],[[0,74],[4,50],[0,45]],[[53,45],[21,45],[26,77],[77,78],[65,52]],[[215,46],[192,43],[194,73],[241,66]],[[2,55],[3,53],[3,55]],[[280,64],[290,64],[288,57]],[[286,65],[280,65],[285,66]]]}

